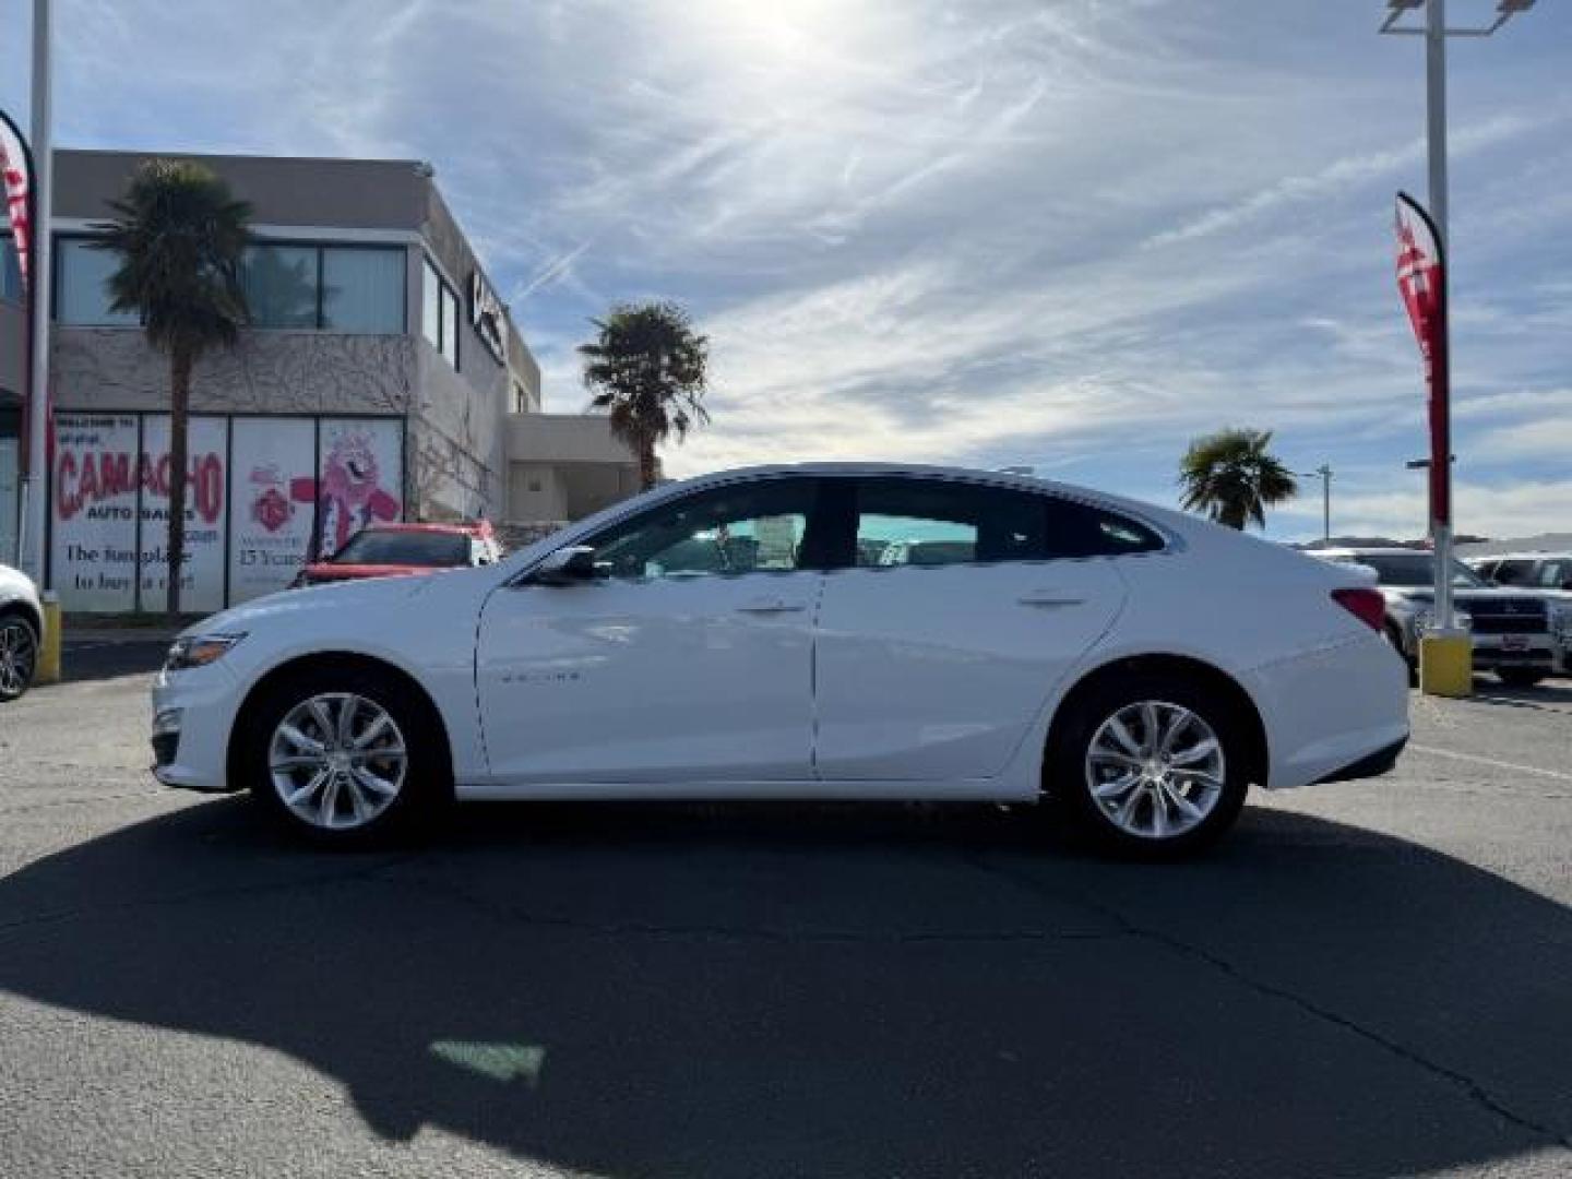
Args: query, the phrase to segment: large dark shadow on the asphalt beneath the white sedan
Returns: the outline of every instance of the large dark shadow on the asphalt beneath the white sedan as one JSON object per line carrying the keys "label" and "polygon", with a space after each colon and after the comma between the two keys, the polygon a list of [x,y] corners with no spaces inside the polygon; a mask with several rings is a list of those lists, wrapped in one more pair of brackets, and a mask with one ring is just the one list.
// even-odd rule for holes
{"label": "large dark shadow on the asphalt beneath the white sedan", "polygon": [[0,990],[289,1053],[390,1140],[613,1176],[1564,1148],[1569,979],[1564,907],[1273,810],[1140,866],[901,806],[472,808],[346,857],[225,799],[0,880]]}

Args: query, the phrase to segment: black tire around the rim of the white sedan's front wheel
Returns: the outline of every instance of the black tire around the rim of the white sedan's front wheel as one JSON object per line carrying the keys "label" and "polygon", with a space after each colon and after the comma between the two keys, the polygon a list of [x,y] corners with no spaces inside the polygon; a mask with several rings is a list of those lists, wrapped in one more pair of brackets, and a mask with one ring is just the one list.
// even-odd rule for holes
{"label": "black tire around the rim of the white sedan's front wheel", "polygon": [[[330,828],[303,819],[285,802],[269,766],[281,722],[311,698],[330,695],[354,695],[385,711],[406,753],[396,797],[354,827]],[[252,799],[280,827],[322,847],[384,847],[429,838],[453,802],[451,758],[442,718],[431,701],[404,681],[362,667],[310,668],[267,685],[241,720],[231,764],[236,784],[250,789]]]}

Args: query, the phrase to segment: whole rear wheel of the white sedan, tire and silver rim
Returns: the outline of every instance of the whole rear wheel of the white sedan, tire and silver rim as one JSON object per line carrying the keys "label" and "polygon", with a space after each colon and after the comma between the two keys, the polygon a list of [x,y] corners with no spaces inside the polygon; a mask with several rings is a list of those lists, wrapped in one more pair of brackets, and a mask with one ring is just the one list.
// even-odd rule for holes
{"label": "whole rear wheel of the white sedan, tire and silver rim", "polygon": [[1050,791],[1105,849],[1171,858],[1239,817],[1250,745],[1231,701],[1177,676],[1107,681],[1072,703],[1050,750]]}

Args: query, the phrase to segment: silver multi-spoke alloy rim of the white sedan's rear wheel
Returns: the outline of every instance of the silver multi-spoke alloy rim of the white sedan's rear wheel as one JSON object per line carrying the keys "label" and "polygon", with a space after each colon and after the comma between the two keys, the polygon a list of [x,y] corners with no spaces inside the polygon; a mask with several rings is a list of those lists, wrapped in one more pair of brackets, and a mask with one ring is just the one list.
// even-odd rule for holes
{"label": "silver multi-spoke alloy rim of the white sedan's rear wheel", "polygon": [[1141,839],[1173,839],[1217,810],[1223,744],[1182,704],[1143,700],[1108,717],[1086,747],[1086,789],[1102,816]]}

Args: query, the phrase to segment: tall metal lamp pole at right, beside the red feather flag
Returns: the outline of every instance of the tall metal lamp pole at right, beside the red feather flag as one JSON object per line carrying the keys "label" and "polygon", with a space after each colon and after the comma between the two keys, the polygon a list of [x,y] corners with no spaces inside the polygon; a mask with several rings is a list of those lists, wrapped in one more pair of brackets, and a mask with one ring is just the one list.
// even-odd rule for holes
{"label": "tall metal lamp pole at right, beside the red feather flag", "polygon": [[[1446,259],[1445,281],[1451,283],[1451,248],[1446,230],[1446,0],[1429,0],[1424,9],[1424,108],[1426,141],[1431,156],[1431,217],[1442,239],[1442,255]],[[1451,454],[1451,325],[1448,299],[1442,296],[1442,355],[1432,358],[1440,371],[1435,395],[1443,398],[1440,407],[1438,454],[1432,454],[1431,467],[1431,541],[1435,547],[1435,621],[1440,630],[1456,629],[1453,615],[1453,465]]]}

